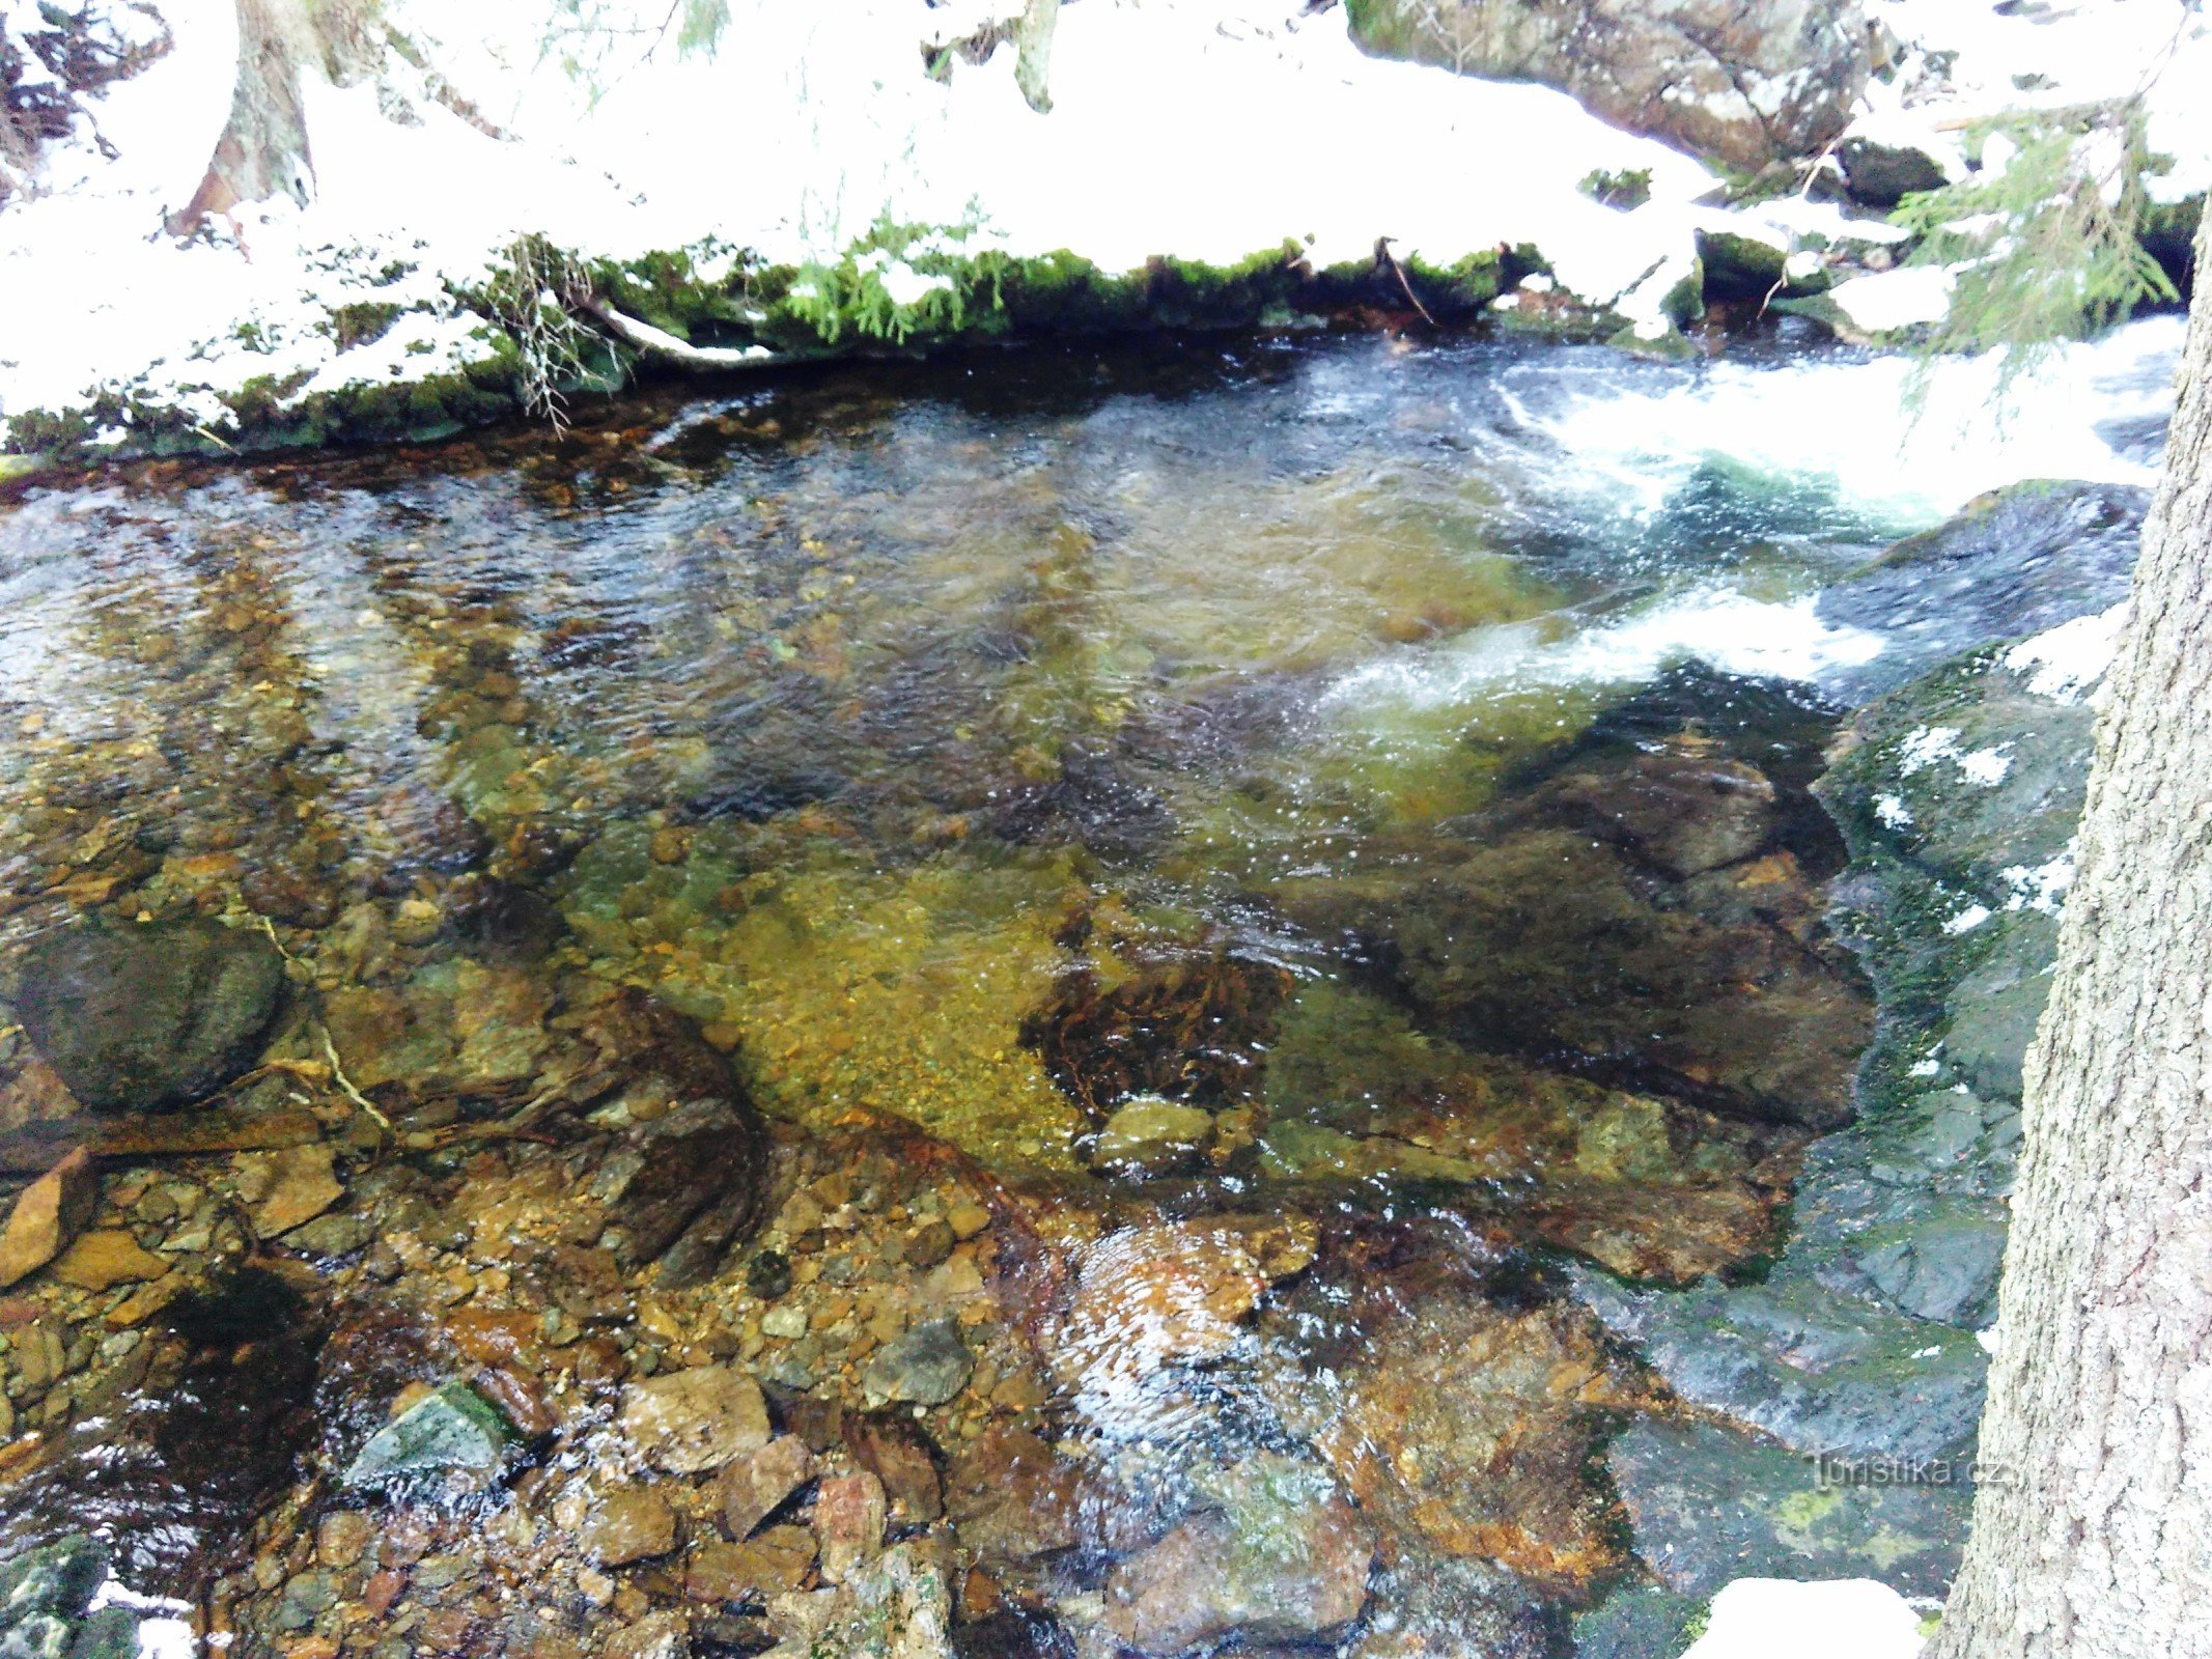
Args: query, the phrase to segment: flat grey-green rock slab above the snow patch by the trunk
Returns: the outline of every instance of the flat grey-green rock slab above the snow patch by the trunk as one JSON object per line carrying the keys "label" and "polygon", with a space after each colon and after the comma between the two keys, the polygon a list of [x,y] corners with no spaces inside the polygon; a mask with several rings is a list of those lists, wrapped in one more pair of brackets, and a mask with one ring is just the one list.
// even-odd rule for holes
{"label": "flat grey-green rock slab above the snow patch by the trunk", "polygon": [[1608,1467],[1637,1553],[1686,1597],[1739,1577],[1880,1577],[1905,1595],[1942,1595],[1973,1506],[1962,1464],[1823,1471],[1712,1425],[1639,1422],[1613,1442]]}

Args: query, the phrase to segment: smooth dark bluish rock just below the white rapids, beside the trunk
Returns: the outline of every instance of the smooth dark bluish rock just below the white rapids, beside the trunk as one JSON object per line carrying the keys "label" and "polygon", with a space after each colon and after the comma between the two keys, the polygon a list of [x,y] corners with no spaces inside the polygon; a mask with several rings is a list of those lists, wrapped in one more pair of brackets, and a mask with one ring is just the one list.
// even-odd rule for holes
{"label": "smooth dark bluish rock just below the white rapids, beside the trunk", "polygon": [[1882,655],[1823,688],[1851,703],[1962,650],[2020,639],[2128,597],[2150,491],[2033,480],[1969,502],[1820,595],[1829,626],[1885,635]]}

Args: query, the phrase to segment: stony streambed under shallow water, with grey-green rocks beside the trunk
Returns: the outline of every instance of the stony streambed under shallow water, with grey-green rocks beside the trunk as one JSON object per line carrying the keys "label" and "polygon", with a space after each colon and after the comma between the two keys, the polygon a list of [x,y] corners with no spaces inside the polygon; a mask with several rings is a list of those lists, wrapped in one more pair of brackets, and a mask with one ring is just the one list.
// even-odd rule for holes
{"label": "stony streambed under shallow water, with grey-green rocks beside the trunk", "polygon": [[1938,1595],[2141,502],[1599,511],[1577,363],[18,500],[7,1641],[1666,1655],[1745,1573]]}

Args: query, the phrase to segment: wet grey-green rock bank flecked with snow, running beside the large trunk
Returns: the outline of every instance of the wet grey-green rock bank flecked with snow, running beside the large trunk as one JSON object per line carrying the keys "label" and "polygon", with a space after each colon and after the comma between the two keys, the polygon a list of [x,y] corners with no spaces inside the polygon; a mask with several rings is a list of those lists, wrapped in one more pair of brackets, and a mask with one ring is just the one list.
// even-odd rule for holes
{"label": "wet grey-green rock bank flecked with snow, running beside the large trunk", "polygon": [[[1856,1077],[1860,1121],[1805,1150],[1792,1232],[1761,1283],[1670,1294],[1577,1276],[1582,1303],[1683,1400],[1750,1431],[1639,1425],[1608,1451],[1639,1557],[1679,1597],[1747,1573],[1865,1575],[1938,1595],[1958,1564],[2020,1066],[2048,987],[2104,668],[2079,630],[2101,637],[2139,509],[2104,487],[2022,487],[1823,597],[1902,606],[1891,619],[1907,670],[1960,630],[2002,637],[2015,617],[2077,637],[1982,644],[1920,670],[1836,745],[1818,783],[1851,849],[1836,922],[1882,1020]],[[1604,1639],[1668,1652],[1648,1630],[1674,1613],[1624,1615]]]}

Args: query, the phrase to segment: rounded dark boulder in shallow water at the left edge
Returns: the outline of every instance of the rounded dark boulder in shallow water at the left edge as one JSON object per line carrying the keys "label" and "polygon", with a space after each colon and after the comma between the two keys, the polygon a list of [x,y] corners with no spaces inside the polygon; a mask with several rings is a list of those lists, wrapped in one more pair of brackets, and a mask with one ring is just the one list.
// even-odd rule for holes
{"label": "rounded dark boulder in shallow water at the left edge", "polygon": [[80,1102],[159,1110],[246,1071],[283,1000],[283,956],[221,922],[84,922],[22,953],[18,1018]]}

